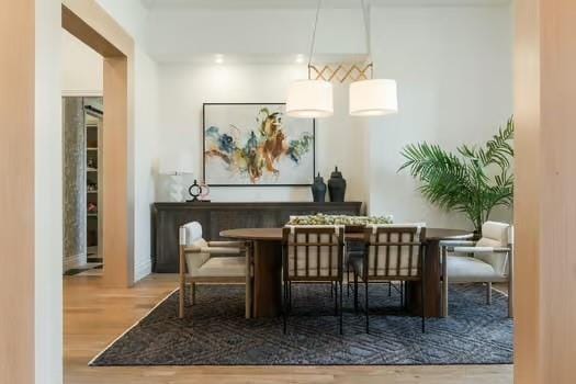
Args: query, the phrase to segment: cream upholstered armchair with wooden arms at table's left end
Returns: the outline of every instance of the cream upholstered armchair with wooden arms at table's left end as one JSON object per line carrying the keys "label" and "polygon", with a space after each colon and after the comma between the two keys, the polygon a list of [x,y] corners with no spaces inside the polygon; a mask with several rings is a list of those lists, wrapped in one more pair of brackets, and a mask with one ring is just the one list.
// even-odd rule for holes
{"label": "cream upholstered armchair with wooden arms at table's left end", "polygon": [[191,304],[195,303],[196,284],[246,284],[246,318],[251,317],[252,258],[249,242],[206,241],[197,222],[180,227],[180,302],[179,317],[184,317],[185,284],[191,284]]}

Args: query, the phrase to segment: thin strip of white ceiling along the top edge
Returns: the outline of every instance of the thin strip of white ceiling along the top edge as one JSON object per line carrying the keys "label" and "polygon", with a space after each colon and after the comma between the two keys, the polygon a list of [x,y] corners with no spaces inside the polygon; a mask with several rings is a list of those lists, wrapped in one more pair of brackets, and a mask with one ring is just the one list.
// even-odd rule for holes
{"label": "thin strip of white ceiling along the top edge", "polygon": [[[302,9],[317,0],[140,0],[148,9]],[[372,0],[374,7],[472,7],[510,3],[511,0]],[[361,0],[324,0],[323,8],[357,8]]]}

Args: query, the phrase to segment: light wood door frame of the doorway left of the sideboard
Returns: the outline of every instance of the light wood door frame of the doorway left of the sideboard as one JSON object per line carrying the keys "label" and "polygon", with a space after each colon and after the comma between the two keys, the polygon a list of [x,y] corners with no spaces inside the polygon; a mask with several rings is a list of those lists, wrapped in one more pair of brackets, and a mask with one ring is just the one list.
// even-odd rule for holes
{"label": "light wood door frame of the doorway left of the sideboard", "polygon": [[133,193],[128,188],[134,42],[95,2],[64,1],[61,25],[103,57],[102,257],[105,286],[134,284]]}

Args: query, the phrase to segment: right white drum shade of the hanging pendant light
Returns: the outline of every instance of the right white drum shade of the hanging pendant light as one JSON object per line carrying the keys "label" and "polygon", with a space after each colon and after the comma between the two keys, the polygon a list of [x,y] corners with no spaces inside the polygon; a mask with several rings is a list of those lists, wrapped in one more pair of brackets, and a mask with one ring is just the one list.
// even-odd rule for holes
{"label": "right white drum shade of the hanging pendant light", "polygon": [[350,114],[379,116],[398,112],[396,81],[372,79],[350,84]]}

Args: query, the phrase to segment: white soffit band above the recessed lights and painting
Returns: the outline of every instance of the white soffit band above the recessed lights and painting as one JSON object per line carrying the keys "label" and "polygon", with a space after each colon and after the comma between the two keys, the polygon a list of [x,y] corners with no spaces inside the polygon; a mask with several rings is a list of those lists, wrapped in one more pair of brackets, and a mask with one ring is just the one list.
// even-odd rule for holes
{"label": "white soffit band above the recessed lights and painting", "polygon": [[[316,10],[308,9],[168,9],[149,15],[150,54],[185,60],[205,53],[308,54]],[[364,53],[360,9],[323,10],[317,29],[319,54]]]}

